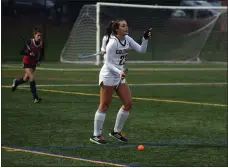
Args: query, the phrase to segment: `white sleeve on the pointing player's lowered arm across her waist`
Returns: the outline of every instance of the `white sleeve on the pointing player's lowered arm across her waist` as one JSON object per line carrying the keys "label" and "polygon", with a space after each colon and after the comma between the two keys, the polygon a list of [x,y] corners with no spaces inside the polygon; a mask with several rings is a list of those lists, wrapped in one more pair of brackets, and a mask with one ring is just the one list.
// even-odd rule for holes
{"label": "white sleeve on the pointing player's lowered arm across her waist", "polygon": [[115,73],[120,73],[121,70],[119,70],[118,68],[116,68],[113,64],[113,58],[115,56],[115,53],[116,53],[116,48],[117,48],[117,42],[115,39],[110,39],[109,43],[107,44],[107,47],[106,47],[106,61],[105,61],[105,64],[106,64],[106,67],[112,71],[112,72],[115,72]]}

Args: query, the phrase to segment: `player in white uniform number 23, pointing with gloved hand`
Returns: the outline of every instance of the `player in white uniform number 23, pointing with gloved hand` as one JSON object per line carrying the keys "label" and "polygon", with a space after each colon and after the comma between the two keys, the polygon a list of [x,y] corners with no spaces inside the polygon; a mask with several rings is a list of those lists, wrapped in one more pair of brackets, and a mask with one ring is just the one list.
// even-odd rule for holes
{"label": "player in white uniform number 23, pointing with gloved hand", "polygon": [[[128,139],[122,134],[122,129],[128,118],[129,110],[132,108],[132,96],[128,84],[124,79],[126,76],[124,72],[124,64],[128,55],[128,50],[133,49],[141,53],[146,52],[148,38],[151,37],[151,29],[144,32],[141,45],[136,43],[130,36],[127,36],[128,25],[125,20],[117,20],[113,22],[112,34],[113,36],[110,36],[106,46],[104,65],[99,74],[99,85],[101,86],[100,104],[95,113],[94,132],[90,138],[90,141],[97,144],[107,143],[102,136],[102,129],[106,112],[112,101],[114,90],[116,90],[123,105],[117,113],[114,129],[109,133],[109,136],[118,141],[128,141]],[[121,81],[121,79],[123,80]]]}

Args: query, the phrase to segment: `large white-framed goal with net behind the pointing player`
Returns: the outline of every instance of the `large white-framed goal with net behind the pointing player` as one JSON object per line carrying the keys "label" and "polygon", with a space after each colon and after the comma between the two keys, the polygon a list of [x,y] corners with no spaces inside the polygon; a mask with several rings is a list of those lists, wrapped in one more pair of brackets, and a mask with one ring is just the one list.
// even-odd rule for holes
{"label": "large white-framed goal with net behind the pointing player", "polygon": [[96,64],[105,30],[111,20],[124,19],[129,36],[141,43],[152,27],[147,52],[130,51],[128,63],[226,63],[227,7],[157,6],[118,3],[84,5],[61,52],[62,63]]}

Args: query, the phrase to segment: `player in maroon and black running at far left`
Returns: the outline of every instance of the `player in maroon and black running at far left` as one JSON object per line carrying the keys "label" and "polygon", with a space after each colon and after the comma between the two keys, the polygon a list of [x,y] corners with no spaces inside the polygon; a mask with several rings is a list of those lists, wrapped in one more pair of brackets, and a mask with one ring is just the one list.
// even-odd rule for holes
{"label": "player in maroon and black running at far left", "polygon": [[41,101],[41,98],[39,98],[37,95],[34,72],[36,66],[39,66],[40,61],[44,56],[44,44],[42,41],[42,32],[40,29],[35,28],[33,30],[33,36],[34,38],[29,39],[26,44],[24,44],[24,47],[20,52],[21,55],[24,55],[23,68],[25,70],[25,74],[23,78],[13,80],[12,91],[15,91],[18,85],[26,83],[29,80],[34,103],[39,103]]}

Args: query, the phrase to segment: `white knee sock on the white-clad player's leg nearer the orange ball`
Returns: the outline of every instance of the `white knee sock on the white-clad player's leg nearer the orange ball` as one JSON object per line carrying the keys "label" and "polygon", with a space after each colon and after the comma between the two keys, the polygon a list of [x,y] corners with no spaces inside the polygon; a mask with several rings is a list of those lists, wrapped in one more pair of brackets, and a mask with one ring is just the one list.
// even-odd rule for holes
{"label": "white knee sock on the white-clad player's leg nearer the orange ball", "polygon": [[116,123],[114,127],[114,132],[121,132],[124,126],[125,121],[127,120],[129,116],[129,111],[125,111],[122,108],[120,108],[119,112],[116,116]]}

